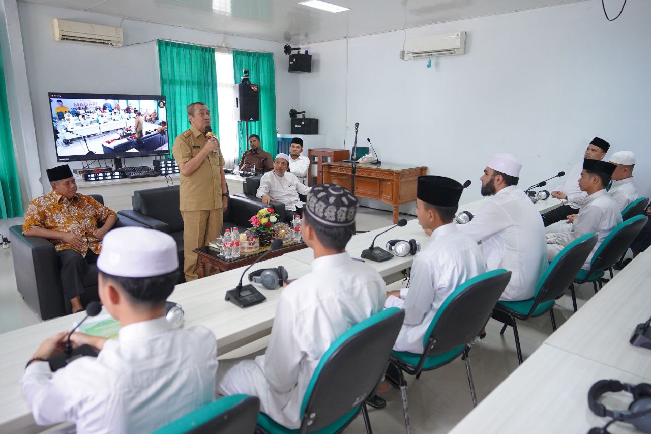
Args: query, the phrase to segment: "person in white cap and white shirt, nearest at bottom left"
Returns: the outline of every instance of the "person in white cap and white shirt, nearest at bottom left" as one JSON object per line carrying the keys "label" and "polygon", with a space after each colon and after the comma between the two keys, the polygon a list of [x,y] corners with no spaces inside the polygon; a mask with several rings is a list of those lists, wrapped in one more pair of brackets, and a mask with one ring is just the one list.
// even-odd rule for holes
{"label": "person in white cap and white shirt, nearest at bottom left", "polygon": [[23,392],[38,425],[75,422],[78,433],[150,433],[212,402],[217,343],[203,326],[174,329],[165,300],[174,290],[176,242],[142,227],[113,229],[97,261],[104,308],[120,321],[118,338],[72,334],[83,356],[53,372],[67,332],[44,341],[27,363]]}

